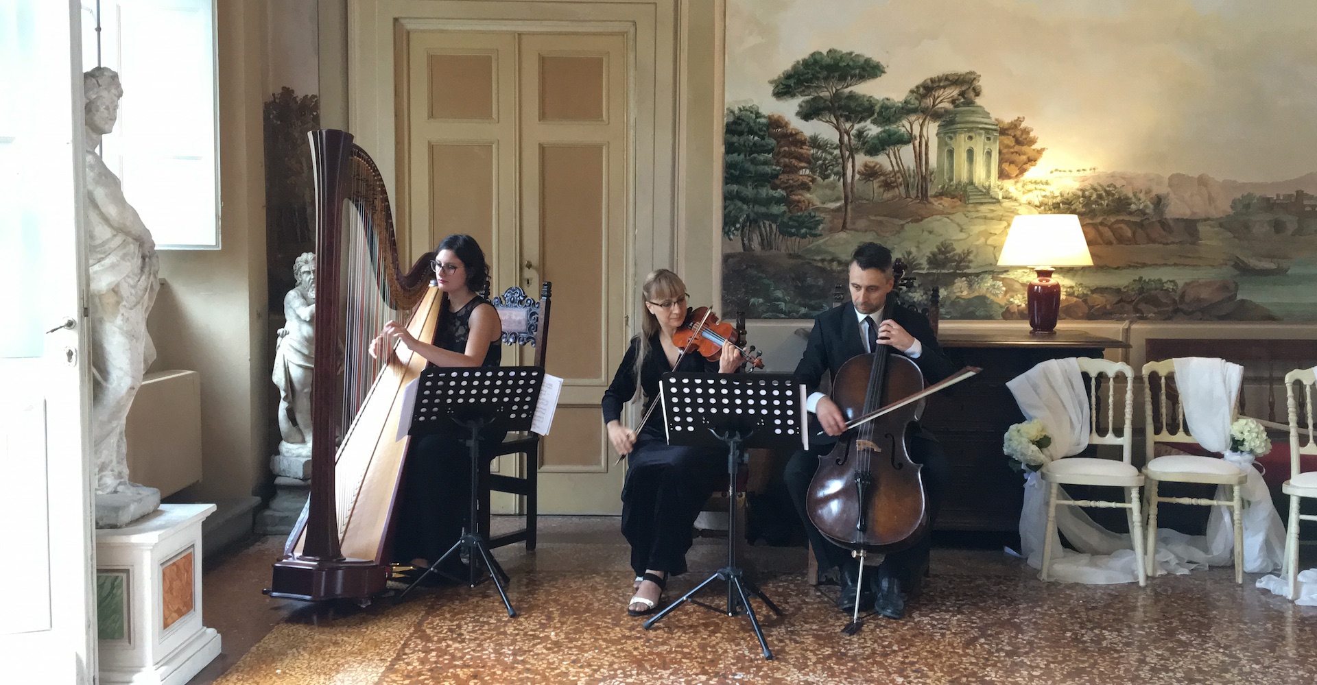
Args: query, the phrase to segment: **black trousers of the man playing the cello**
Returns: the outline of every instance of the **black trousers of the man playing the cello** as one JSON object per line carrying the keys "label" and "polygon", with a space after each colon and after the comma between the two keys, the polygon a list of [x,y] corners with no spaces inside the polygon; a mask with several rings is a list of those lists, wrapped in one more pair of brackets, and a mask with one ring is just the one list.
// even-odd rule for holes
{"label": "black trousers of the man playing the cello", "polygon": [[[923,493],[928,508],[928,531],[931,531],[932,523],[938,518],[938,510],[942,507],[942,494],[946,491],[946,485],[951,477],[951,465],[936,440],[915,433],[906,440],[906,445],[910,451],[910,458],[923,465],[919,473],[923,477]],[[810,520],[806,510],[805,498],[809,494],[810,481],[814,478],[818,464],[819,456],[815,452],[795,451],[790,461],[786,462],[786,472],[784,474],[786,489],[792,495],[792,502],[795,505],[795,511],[801,515],[801,520],[805,522],[805,534],[814,548],[814,556],[818,559],[819,568],[830,569],[855,565],[857,561],[851,556],[851,551],[838,547],[823,537],[823,534]],[[913,545],[900,552],[888,553],[878,566],[878,574],[900,577],[902,581],[907,581],[910,573],[927,562],[928,549],[928,535],[925,534]]]}

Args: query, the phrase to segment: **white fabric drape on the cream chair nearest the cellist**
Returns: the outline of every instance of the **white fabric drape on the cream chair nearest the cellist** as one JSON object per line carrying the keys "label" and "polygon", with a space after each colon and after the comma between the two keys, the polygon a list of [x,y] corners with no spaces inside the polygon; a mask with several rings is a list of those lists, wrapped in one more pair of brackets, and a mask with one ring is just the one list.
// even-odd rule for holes
{"label": "white fabric drape on the cream chair nearest the cellist", "polygon": [[[1058,460],[1077,454],[1088,448],[1090,416],[1084,377],[1075,358],[1048,360],[1006,382],[1015,395],[1015,403],[1029,419],[1036,419],[1047,429],[1052,443],[1043,454]],[[1125,427],[1127,431],[1129,427]],[[1047,534],[1047,483],[1038,472],[1025,480],[1025,506],[1019,512],[1021,556],[1030,566],[1043,566],[1043,543]],[[1065,489],[1058,497],[1069,499]],[[1065,534],[1075,549],[1060,544],[1060,535],[1052,539],[1052,578],[1062,582],[1112,585],[1138,582],[1138,559],[1131,549],[1129,534],[1114,534],[1098,526],[1080,507],[1058,507],[1056,530]]]}

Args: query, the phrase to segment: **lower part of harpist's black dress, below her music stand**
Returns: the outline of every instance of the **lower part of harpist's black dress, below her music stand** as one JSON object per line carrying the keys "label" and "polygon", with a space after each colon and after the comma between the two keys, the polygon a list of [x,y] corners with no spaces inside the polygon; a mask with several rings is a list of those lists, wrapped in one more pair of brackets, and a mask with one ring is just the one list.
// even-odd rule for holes
{"label": "lower part of harpist's black dress, below her music stand", "polygon": [[[482,435],[483,458],[491,460],[506,432]],[[394,523],[394,560],[435,561],[470,528],[471,458],[465,429],[453,427],[435,435],[412,437],[399,486],[400,501]],[[457,566],[456,556],[449,569]]]}

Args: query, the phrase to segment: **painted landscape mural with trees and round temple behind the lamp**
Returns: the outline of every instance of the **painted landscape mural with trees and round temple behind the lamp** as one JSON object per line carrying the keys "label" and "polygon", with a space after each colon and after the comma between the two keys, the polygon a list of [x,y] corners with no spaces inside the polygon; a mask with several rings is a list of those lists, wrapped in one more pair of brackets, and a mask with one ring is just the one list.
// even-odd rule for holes
{"label": "painted landscape mural with trees and round temple behind the lamp", "polygon": [[728,0],[723,308],[806,317],[888,245],[1023,319],[1010,220],[1076,213],[1062,317],[1317,320],[1317,3]]}

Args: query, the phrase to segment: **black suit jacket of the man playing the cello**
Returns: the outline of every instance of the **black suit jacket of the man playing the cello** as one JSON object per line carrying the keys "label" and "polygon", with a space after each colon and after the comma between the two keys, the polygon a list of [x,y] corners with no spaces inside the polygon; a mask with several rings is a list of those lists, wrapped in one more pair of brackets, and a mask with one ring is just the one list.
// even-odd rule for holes
{"label": "black suit jacket of the man playing the cello", "polygon": [[[943,354],[942,345],[938,345],[938,336],[932,333],[928,317],[897,304],[892,307],[892,320],[901,324],[901,328],[905,328],[923,346],[919,357],[913,361],[923,371],[925,383],[936,383],[956,371],[956,366]],[[832,377],[836,377],[836,371],[843,364],[864,353],[859,316],[855,306],[848,302],[814,317],[814,331],[810,331],[809,342],[805,344],[805,356],[795,366],[795,375],[810,393],[814,393],[818,390],[824,371],[831,371]],[[900,354],[897,350],[893,353]],[[922,429],[918,431],[918,435],[932,439]]]}

